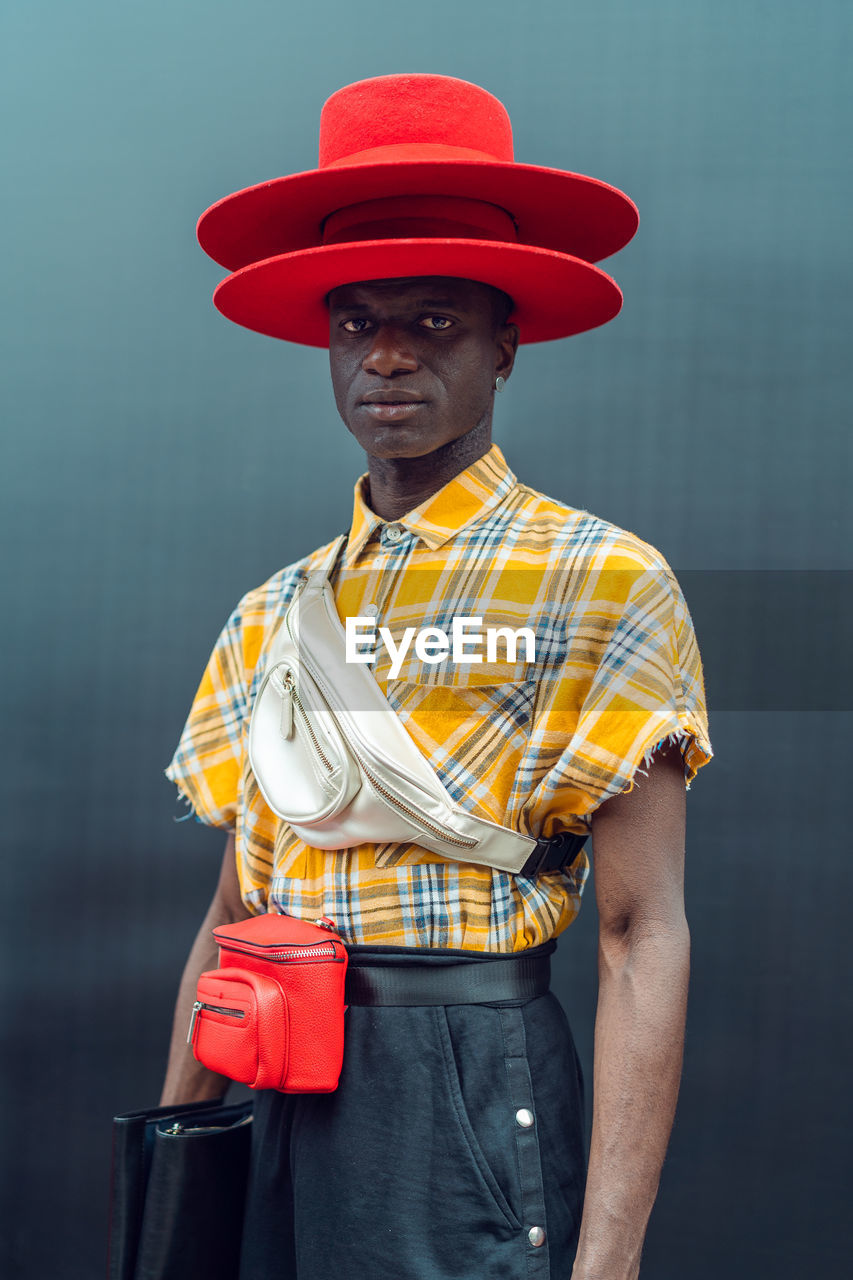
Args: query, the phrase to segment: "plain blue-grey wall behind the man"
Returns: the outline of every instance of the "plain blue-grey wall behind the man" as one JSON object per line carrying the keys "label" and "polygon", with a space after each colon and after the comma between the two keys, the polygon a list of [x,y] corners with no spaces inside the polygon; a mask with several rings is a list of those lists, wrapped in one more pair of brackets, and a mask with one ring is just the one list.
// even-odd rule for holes
{"label": "plain blue-grey wall behind the man", "polygon": [[[218,315],[195,223],[313,168],[323,100],[394,70],[482,83],[517,159],[642,214],[622,314],[523,349],[497,439],[663,552],[706,663],[643,1276],[847,1274],[849,5],[31,0],[4,28],[4,1276],[101,1272],[110,1116],[156,1100],[222,850],[161,769],[238,596],[362,468],[324,353]],[[594,950],[590,884],[557,978],[588,1076]]]}

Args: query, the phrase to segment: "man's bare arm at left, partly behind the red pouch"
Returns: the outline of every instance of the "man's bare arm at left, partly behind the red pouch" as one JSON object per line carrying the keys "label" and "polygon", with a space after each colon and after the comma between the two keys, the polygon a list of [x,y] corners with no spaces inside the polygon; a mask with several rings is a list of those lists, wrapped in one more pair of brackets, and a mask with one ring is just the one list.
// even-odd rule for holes
{"label": "man's bare arm at left, partly behind the red pouch", "polygon": [[246,910],[240,896],[234,837],[229,836],[222,860],[216,892],[196,934],[196,941],[192,943],[190,959],[187,960],[181,987],[178,988],[172,1025],[172,1043],[169,1046],[169,1062],[160,1106],[173,1106],[175,1102],[204,1102],[207,1098],[219,1097],[231,1084],[227,1075],[218,1075],[215,1071],[209,1071],[201,1062],[196,1062],[192,1050],[187,1044],[187,1028],[190,1025],[192,1002],[196,998],[199,974],[204,973],[205,969],[215,969],[219,961],[219,948],[210,931],[218,924],[245,920],[250,915],[251,911]]}

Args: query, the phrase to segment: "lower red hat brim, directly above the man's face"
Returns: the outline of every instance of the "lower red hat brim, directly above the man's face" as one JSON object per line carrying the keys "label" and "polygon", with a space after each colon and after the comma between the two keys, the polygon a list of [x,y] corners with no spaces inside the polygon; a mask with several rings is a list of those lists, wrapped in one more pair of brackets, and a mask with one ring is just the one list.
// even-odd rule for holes
{"label": "lower red hat brim, directly above the man's face", "polygon": [[392,239],[324,244],[252,262],[214,292],[234,324],[307,347],[329,346],[325,296],[341,284],[450,275],[503,289],[521,342],[569,338],[617,315],[622,294],[581,259],[526,244],[473,239]]}

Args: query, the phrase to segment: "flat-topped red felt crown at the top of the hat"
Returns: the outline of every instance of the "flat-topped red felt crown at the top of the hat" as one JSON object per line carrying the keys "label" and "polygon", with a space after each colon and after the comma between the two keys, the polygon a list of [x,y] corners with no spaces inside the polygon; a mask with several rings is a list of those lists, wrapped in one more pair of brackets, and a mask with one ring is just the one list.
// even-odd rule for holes
{"label": "flat-topped red felt crown at the top of the hat", "polygon": [[497,97],[452,76],[374,76],[327,99],[321,169],[393,146],[453,147],[512,161],[512,125]]}

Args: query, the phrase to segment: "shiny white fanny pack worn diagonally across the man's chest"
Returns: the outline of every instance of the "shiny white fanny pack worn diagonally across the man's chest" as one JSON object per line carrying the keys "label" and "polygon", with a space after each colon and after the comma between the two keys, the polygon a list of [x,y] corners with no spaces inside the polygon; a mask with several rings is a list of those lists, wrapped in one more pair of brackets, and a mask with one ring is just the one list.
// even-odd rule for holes
{"label": "shiny white fanny pack worn diagonally across the man's chest", "polygon": [[255,699],[248,759],[269,808],[315,849],[414,844],[528,876],[566,865],[585,836],[537,841],[461,809],[371,673],[346,660],[328,577],[345,541],[297,586]]}

